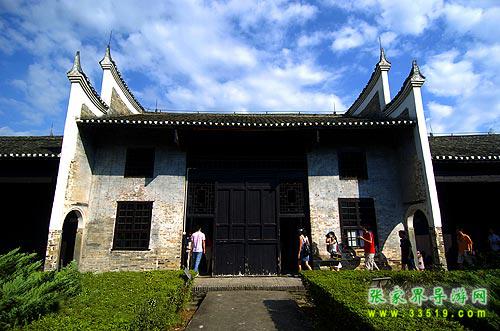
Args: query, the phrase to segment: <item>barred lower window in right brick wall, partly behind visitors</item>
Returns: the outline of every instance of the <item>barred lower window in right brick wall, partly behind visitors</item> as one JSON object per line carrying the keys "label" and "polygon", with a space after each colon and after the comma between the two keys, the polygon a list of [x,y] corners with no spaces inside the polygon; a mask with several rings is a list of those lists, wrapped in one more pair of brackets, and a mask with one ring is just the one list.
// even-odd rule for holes
{"label": "barred lower window in right brick wall, partly behind visitors", "polygon": [[350,247],[363,247],[364,241],[358,239],[363,235],[361,227],[373,232],[377,243],[377,221],[373,199],[339,199],[340,228],[342,240]]}

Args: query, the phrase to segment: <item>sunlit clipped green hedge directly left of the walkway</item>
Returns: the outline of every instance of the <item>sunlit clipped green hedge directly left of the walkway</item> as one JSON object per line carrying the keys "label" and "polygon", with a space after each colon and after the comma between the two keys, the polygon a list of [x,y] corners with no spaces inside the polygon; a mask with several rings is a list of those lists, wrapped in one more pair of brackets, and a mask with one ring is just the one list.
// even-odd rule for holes
{"label": "sunlit clipped green hedge directly left of the walkway", "polygon": [[26,330],[166,330],[181,322],[190,284],[181,271],[82,274],[82,292]]}

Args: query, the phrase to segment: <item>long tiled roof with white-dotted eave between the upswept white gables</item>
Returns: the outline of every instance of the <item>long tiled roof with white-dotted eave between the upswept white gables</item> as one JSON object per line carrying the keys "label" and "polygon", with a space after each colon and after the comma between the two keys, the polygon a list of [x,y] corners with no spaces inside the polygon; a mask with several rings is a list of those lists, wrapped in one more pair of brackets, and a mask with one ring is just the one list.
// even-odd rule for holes
{"label": "long tiled roof with white-dotted eave between the upswept white gables", "polygon": [[373,120],[334,114],[215,114],[143,113],[126,116],[82,118],[86,125],[163,125],[202,127],[394,127],[412,126],[411,120]]}

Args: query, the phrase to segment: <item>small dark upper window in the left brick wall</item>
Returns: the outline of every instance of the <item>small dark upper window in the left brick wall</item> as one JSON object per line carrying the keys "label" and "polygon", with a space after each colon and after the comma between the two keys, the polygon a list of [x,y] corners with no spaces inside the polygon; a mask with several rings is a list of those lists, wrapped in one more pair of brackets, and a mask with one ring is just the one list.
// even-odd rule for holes
{"label": "small dark upper window in the left brick wall", "polygon": [[124,176],[152,178],[154,164],[154,148],[127,148]]}

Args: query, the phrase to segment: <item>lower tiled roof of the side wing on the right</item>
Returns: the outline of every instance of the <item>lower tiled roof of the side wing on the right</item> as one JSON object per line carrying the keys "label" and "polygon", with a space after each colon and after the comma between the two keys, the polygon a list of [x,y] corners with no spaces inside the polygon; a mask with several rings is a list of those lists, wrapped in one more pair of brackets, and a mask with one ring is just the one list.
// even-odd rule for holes
{"label": "lower tiled roof of the side wing on the right", "polygon": [[431,136],[434,160],[500,161],[500,134]]}

